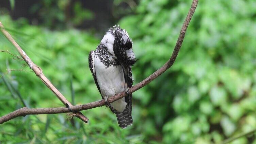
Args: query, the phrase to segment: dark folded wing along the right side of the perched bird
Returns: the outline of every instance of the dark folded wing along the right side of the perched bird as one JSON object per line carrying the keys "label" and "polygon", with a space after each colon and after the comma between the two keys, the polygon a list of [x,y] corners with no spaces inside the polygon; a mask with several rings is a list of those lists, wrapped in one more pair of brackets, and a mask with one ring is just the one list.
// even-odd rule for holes
{"label": "dark folded wing along the right side of the perched bird", "polygon": [[[125,77],[125,84],[127,88],[132,87],[132,73],[131,73],[131,66],[125,67],[123,66],[123,72],[124,72],[124,77]],[[131,109],[132,109],[132,94],[128,94],[125,97],[125,102],[127,104],[127,111],[129,116],[131,116]]]}

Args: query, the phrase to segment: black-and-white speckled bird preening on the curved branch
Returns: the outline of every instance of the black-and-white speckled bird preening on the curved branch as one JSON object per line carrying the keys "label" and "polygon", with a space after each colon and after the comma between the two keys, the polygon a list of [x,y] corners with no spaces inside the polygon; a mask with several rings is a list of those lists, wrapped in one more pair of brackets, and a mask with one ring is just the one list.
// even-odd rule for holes
{"label": "black-and-white speckled bird preening on the curved branch", "polygon": [[[89,67],[94,82],[110,108],[117,117],[119,127],[126,128],[132,125],[132,69],[136,62],[132,50],[132,41],[125,29],[119,25],[112,26],[103,36],[95,51],[89,54]],[[126,96],[113,103],[108,103],[108,98],[120,92]]]}

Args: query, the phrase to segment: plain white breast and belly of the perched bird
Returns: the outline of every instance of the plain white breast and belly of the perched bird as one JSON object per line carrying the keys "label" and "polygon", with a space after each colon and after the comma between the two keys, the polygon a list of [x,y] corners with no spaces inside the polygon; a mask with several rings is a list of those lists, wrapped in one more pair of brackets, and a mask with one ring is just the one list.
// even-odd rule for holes
{"label": "plain white breast and belly of the perched bird", "polygon": [[[111,97],[125,90],[124,73],[121,66],[106,68],[99,58],[95,58],[94,66],[102,96]],[[125,98],[115,101],[110,105],[119,112],[123,112],[126,107]]]}

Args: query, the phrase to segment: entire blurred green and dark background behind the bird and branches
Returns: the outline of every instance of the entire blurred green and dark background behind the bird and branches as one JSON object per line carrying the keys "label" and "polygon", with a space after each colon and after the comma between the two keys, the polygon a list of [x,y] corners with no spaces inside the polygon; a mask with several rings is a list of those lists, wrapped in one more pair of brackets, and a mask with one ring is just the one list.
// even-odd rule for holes
{"label": "entire blurred green and dark background behind the bird and branches", "polygon": [[[134,85],[171,56],[192,0],[1,0],[0,21],[74,105],[101,100],[88,54],[114,24],[133,40]],[[17,55],[0,34],[0,50]],[[63,107],[25,65],[0,52],[0,116]],[[28,115],[0,125],[0,143],[217,143],[256,128],[256,1],[199,1],[174,65],[133,93],[134,124],[106,107]],[[26,71],[15,71],[15,70]],[[11,71],[12,70],[12,71]],[[233,144],[256,143],[255,135]]]}

